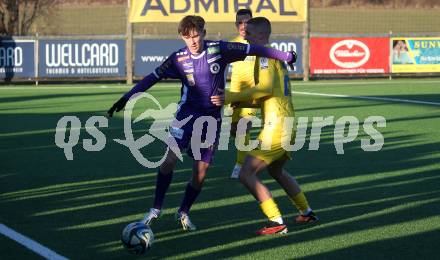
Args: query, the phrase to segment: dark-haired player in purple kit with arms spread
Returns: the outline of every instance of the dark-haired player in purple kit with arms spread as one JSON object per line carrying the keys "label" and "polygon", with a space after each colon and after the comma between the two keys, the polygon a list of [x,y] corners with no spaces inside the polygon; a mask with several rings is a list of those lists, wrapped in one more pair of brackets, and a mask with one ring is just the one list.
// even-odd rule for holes
{"label": "dark-haired player in purple kit with arms spread", "polygon": [[[122,96],[107,113],[111,117],[115,111],[118,112],[125,107],[131,96],[148,90],[161,79],[179,79],[182,82],[181,100],[176,118],[170,128],[170,134],[178,147],[181,150],[187,149],[188,155],[192,158],[195,158],[190,145],[193,123],[202,116],[211,116],[216,119],[217,132],[214,144],[210,148],[201,148],[201,158],[194,159],[192,178],[186,186],[182,203],[176,214],[182,228],[192,231],[196,229],[196,226],[190,221],[188,212],[200,194],[220,134],[222,104],[213,104],[211,96],[224,93],[224,73],[227,65],[234,61],[243,60],[248,55],[293,63],[296,55],[260,45],[204,40],[206,35],[205,21],[200,16],[184,17],[179,24],[178,33],[186,46],[173,52],[164,63]],[[192,117],[185,125],[176,127],[175,122],[182,121],[188,116]],[[202,138],[204,138],[206,131],[202,130]],[[170,149],[166,159],[159,167],[153,207],[143,220],[146,224],[151,224],[161,214],[165,194],[171,183],[177,160],[178,157]]]}

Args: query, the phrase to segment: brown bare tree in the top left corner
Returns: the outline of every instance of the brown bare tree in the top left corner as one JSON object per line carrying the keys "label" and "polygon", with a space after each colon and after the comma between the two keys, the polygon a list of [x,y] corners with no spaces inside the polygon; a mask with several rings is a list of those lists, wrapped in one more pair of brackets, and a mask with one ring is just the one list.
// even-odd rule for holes
{"label": "brown bare tree in the top left corner", "polygon": [[58,0],[0,0],[0,35],[27,35]]}

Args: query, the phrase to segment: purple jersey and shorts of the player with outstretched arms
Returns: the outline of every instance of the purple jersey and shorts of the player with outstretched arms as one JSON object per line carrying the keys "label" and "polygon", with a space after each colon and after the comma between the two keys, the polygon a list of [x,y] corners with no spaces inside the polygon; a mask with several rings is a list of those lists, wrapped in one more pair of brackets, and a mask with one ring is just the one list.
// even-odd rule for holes
{"label": "purple jersey and shorts of the player with outstretched arms", "polygon": [[[148,90],[161,79],[179,79],[182,82],[179,109],[176,120],[179,122],[192,116],[183,126],[171,125],[170,134],[180,149],[187,149],[192,157],[190,140],[193,134],[193,123],[199,117],[211,116],[216,119],[217,130],[211,148],[201,149],[201,160],[212,161],[215,146],[218,143],[221,125],[221,107],[212,104],[211,96],[224,93],[225,69],[229,63],[244,60],[246,56],[262,56],[272,59],[291,61],[292,54],[259,45],[248,45],[238,42],[204,41],[200,54],[191,54],[187,47],[172,53],[168,59],[157,67],[153,73],[137,83],[125,98],[129,99],[137,92]],[[203,127],[202,136],[206,135]]]}

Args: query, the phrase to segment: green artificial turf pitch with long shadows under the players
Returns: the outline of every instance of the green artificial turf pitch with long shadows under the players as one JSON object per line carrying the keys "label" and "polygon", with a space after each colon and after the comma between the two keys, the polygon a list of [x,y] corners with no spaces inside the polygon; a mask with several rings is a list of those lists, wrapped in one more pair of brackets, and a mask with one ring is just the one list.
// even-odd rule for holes
{"label": "green artificial turf pitch with long shadows under the players", "polygon": [[[125,225],[139,220],[152,204],[156,169],[140,165],[130,151],[113,141],[124,139],[123,113],[99,128],[105,148],[88,152],[84,128],[130,87],[117,84],[6,86],[0,88],[0,223],[70,259],[129,259],[119,238]],[[286,165],[301,184],[320,224],[298,226],[297,210],[266,172],[260,177],[273,192],[289,232],[256,237],[264,223],[258,204],[229,175],[230,150],[218,151],[191,219],[198,230],[186,233],[174,220],[191,175],[187,156],[179,163],[165,210],[153,226],[151,258],[172,259],[435,259],[440,241],[440,81],[356,80],[293,82],[296,116],[307,117],[304,147]],[[306,93],[307,92],[307,93]],[[177,83],[160,83],[149,91],[162,106],[177,102]],[[311,93],[345,97],[315,96]],[[347,97],[350,96],[350,97]],[[363,97],[390,100],[358,99]],[[396,99],[428,101],[414,104]],[[143,101],[135,115],[154,108]],[[55,144],[63,116],[82,124],[73,160]],[[357,138],[334,146],[334,124],[322,129],[319,149],[309,150],[312,121],[343,116],[360,122]],[[384,145],[376,152],[361,148],[369,139],[363,123],[382,116],[376,128]],[[315,118],[315,119],[314,119]],[[136,138],[151,121],[133,124]],[[348,125],[347,125],[348,129]],[[144,147],[155,160],[165,151],[160,141]],[[0,235],[1,259],[37,258]],[[133,259],[138,257],[132,257]]]}

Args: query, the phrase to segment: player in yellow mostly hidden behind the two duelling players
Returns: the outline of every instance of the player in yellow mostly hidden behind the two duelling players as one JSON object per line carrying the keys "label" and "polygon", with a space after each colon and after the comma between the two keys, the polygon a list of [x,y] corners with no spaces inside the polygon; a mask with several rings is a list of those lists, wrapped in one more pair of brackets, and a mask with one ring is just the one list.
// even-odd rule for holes
{"label": "player in yellow mostly hidden behind the two duelling players", "polygon": [[[232,39],[232,42],[241,42],[248,43],[245,40],[246,36],[246,26],[247,21],[252,18],[252,11],[249,9],[240,9],[237,11],[235,15],[235,26],[238,31],[238,36]],[[253,87],[255,85],[254,82],[254,64],[255,64],[255,56],[248,56],[243,61],[237,61],[231,63],[232,66],[232,75],[231,75],[231,84],[229,90],[231,92],[241,92],[246,88]],[[256,110],[253,108],[233,108],[232,113],[232,124],[231,124],[231,136],[235,136],[237,132],[237,124],[241,118],[249,119],[256,115]],[[246,129],[245,142],[249,141],[249,127]],[[238,178],[238,173],[240,172],[241,165],[244,162],[244,158],[246,157],[246,151],[237,150],[237,159],[234,166],[234,169],[231,173],[232,179]]]}

